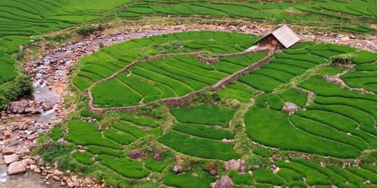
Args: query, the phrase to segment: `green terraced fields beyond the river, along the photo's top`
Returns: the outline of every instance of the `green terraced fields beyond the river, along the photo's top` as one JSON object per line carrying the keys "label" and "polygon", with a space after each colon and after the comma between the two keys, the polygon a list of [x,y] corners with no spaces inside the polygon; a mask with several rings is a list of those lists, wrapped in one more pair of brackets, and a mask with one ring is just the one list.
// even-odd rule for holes
{"label": "green terraced fields beyond the river, along the photo's top", "polygon": [[[54,0],[54,1],[10,1],[0,3],[0,49],[6,54],[19,52],[19,45],[38,40],[47,31],[61,31],[77,24],[101,19],[133,19],[159,15],[211,15],[214,17],[246,17],[250,19],[272,19],[278,22],[331,23],[333,29],[359,33],[370,33],[374,29],[353,22],[354,17],[366,15],[376,17],[377,3],[374,0],[312,1],[306,4],[283,2],[248,1],[103,1],[103,0]],[[339,26],[341,22],[347,26]],[[29,38],[30,36],[34,38]],[[1,59],[0,84],[15,79],[20,70],[14,70],[14,60]],[[5,72],[11,72],[6,74]],[[82,84],[82,87],[87,84]],[[369,86],[369,88],[375,86]]]}

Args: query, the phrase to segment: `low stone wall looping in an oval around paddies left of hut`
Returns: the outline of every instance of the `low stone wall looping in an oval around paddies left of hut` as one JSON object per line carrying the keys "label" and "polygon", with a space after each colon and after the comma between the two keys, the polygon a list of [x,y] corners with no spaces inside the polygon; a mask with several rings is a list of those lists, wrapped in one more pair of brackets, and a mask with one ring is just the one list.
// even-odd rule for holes
{"label": "low stone wall looping in an oval around paddies left of hut", "polygon": [[[131,68],[132,66],[138,65],[138,63],[141,62],[146,62],[146,61],[151,61],[154,59],[160,59],[160,58],[168,58],[168,57],[173,57],[173,56],[193,56],[198,59],[198,61],[202,61],[205,64],[214,64],[217,61],[219,61],[219,58],[226,58],[226,57],[233,57],[233,56],[245,56],[246,54],[252,54],[252,53],[260,53],[260,52],[265,52],[268,53],[265,58],[262,60],[253,63],[252,65],[249,65],[248,67],[239,70],[232,75],[221,79],[219,82],[214,84],[213,86],[207,86],[205,88],[200,89],[199,91],[195,91],[193,93],[188,93],[187,95],[184,95],[182,97],[171,97],[167,99],[161,99],[161,100],[156,100],[154,102],[149,102],[147,104],[140,104],[137,106],[131,106],[131,107],[112,107],[112,108],[105,108],[105,109],[100,109],[94,107],[94,98],[91,93],[91,88],[96,86],[96,84],[99,84],[103,81],[108,81],[109,79],[113,79],[117,77],[121,72],[128,72],[128,69]],[[197,97],[198,95],[201,95],[205,91],[218,91],[222,86],[226,86],[229,84],[229,82],[233,79],[237,79],[238,77],[242,77],[246,75],[247,73],[251,72],[252,70],[256,70],[256,68],[259,68],[262,65],[266,65],[269,62],[269,58],[272,57],[274,54],[274,50],[269,49],[267,47],[262,47],[259,49],[251,50],[251,51],[244,51],[244,52],[239,52],[239,53],[234,53],[234,54],[216,54],[216,58],[205,58],[202,56],[202,54],[212,54],[211,52],[206,52],[206,51],[201,51],[201,52],[194,52],[194,53],[184,53],[184,54],[157,54],[156,56],[151,56],[149,58],[145,58],[142,60],[137,60],[133,61],[130,65],[127,65],[125,68],[122,70],[119,70],[118,72],[115,72],[113,75],[111,75],[108,78],[101,79],[100,81],[96,81],[90,88],[88,88],[88,94],[89,94],[89,111],[94,114],[104,114],[106,111],[119,111],[119,112],[124,112],[124,111],[135,111],[139,109],[142,106],[151,106],[152,104],[156,104],[158,102],[164,102],[165,104],[173,105],[173,104],[182,104],[183,102],[186,102],[186,100],[192,99],[194,97]]]}

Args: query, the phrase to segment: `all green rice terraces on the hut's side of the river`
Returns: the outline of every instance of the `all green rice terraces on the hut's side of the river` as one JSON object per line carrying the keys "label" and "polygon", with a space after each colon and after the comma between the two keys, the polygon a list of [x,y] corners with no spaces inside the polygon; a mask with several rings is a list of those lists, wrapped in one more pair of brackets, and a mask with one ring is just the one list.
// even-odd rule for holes
{"label": "all green rice terraces on the hut's side of the river", "polygon": [[[82,58],[82,68],[73,84],[82,93],[92,87],[98,108],[129,107],[179,97],[212,86],[266,54],[221,58],[214,65],[187,56],[162,58],[140,63],[114,79],[92,85],[140,55],[200,50],[237,53],[253,45],[257,38],[198,31],[133,39]],[[176,43],[183,48],[175,47]],[[355,67],[343,73],[341,68],[330,65],[329,59],[345,53],[354,53],[357,58]],[[114,113],[115,116],[106,113],[103,117],[82,111],[82,116],[100,118],[100,126],[107,123],[107,127],[98,131],[98,125],[71,120],[64,139],[82,146],[81,152],[72,153],[73,164],[104,168],[133,185],[151,186],[150,178],[146,178],[155,177],[157,187],[210,187],[216,181],[209,173],[208,166],[212,166],[218,175],[232,178],[235,187],[375,187],[377,166],[372,156],[377,148],[377,97],[348,88],[374,92],[376,59],[377,54],[353,47],[302,42],[275,52],[267,65],[184,107],[159,104],[156,109],[146,107],[134,113]],[[337,74],[346,87],[323,79],[324,75]],[[300,109],[291,115],[281,113],[286,102],[297,104]],[[239,120],[241,125],[237,125]],[[54,130],[50,136],[59,139],[59,131],[60,128]],[[251,144],[252,141],[258,144]],[[135,149],[148,155],[141,160],[129,158],[128,153]],[[161,154],[161,161],[153,160],[156,153]],[[352,161],[358,158],[362,161],[355,165]],[[246,166],[251,167],[246,173],[224,171],[223,162],[230,159],[245,159]],[[216,163],[218,167],[214,167]],[[172,173],[177,164],[183,167],[184,174]],[[159,176],[163,180],[156,178]],[[108,184],[128,185],[108,179]]]}

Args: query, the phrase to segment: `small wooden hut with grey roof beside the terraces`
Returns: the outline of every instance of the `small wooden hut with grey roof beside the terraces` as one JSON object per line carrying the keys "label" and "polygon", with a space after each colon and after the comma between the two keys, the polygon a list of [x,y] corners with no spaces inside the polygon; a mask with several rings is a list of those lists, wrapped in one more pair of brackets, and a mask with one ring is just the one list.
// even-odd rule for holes
{"label": "small wooden hut with grey roof beside the terraces", "polygon": [[263,38],[260,38],[259,44],[261,47],[272,47],[274,49],[290,48],[295,45],[300,38],[288,26],[283,25],[279,29],[268,33]]}

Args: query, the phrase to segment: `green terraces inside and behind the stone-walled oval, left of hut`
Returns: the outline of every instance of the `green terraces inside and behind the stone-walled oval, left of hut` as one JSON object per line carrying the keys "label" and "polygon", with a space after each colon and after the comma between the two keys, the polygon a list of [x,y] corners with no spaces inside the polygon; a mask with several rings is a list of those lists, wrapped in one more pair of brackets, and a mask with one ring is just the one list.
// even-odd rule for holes
{"label": "green terraces inside and behind the stone-walled oval, left of hut", "polygon": [[[73,79],[73,84],[84,90],[94,82],[110,77],[126,67],[141,54],[153,56],[160,53],[198,51],[232,54],[243,52],[244,49],[251,47],[256,38],[256,36],[241,33],[200,31],[130,40],[105,47],[99,52],[82,58],[84,66]],[[165,46],[175,47],[175,49],[165,49],[163,48]],[[131,66],[128,72],[121,72],[114,79],[97,84],[91,92],[94,104],[97,104],[99,108],[128,107],[169,97],[181,97],[206,86],[212,86],[263,57],[265,54],[256,53],[221,58],[214,65],[206,65],[190,56],[156,59]],[[105,95],[109,91],[112,95]],[[119,96],[119,93],[123,95]]]}

